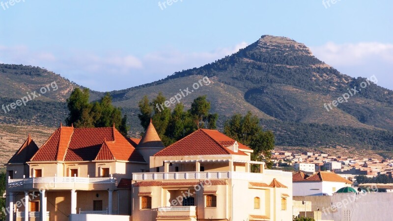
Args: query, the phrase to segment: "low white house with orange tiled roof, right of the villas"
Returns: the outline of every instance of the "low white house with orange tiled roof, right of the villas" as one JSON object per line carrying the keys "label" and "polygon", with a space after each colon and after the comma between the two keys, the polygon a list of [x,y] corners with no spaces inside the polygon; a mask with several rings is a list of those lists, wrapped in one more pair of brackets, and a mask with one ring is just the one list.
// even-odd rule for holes
{"label": "low white house with orange tiled roof, right of the villas", "polygon": [[353,182],[334,172],[319,171],[312,175],[297,172],[292,176],[293,196],[332,196],[342,187]]}

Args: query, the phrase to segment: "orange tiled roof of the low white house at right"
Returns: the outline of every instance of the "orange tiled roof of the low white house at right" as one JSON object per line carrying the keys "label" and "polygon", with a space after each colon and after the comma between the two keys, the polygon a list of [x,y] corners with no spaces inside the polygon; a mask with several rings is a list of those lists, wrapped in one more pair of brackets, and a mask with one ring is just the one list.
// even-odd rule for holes
{"label": "orange tiled roof of the low white house at right", "polygon": [[304,172],[297,172],[292,175],[293,182],[318,182],[318,181],[328,181],[328,182],[341,182],[341,183],[348,183],[352,184],[353,182],[341,177],[340,175],[334,172],[327,172],[327,171],[319,171],[312,175],[307,175]]}

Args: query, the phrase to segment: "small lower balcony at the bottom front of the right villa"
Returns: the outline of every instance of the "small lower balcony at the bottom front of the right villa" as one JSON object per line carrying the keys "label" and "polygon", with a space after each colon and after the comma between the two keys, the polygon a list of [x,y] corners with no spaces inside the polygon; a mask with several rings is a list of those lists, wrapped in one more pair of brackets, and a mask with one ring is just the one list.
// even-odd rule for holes
{"label": "small lower balcony at the bottom front of the right villa", "polygon": [[[197,207],[196,206],[165,206],[158,207],[157,220],[166,220],[170,217],[187,217],[196,218],[197,217]],[[190,219],[193,220],[193,219]]]}

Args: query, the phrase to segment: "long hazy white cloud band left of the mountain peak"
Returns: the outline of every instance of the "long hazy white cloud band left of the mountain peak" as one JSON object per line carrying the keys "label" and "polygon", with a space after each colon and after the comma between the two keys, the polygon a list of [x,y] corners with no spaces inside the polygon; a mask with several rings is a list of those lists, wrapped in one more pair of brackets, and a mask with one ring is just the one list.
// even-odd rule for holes
{"label": "long hazy white cloud band left of the mountain peak", "polygon": [[183,69],[200,67],[246,46],[247,43],[241,42],[234,47],[208,52],[166,49],[140,58],[124,52],[99,55],[86,51],[63,50],[55,53],[31,51],[25,46],[0,46],[0,61],[45,67],[93,90],[111,91],[159,80]]}

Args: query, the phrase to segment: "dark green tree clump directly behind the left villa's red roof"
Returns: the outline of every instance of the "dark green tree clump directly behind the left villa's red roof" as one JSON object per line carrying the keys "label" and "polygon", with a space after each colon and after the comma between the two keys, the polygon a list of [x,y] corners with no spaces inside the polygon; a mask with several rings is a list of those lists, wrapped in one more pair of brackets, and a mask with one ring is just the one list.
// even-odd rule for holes
{"label": "dark green tree clump directly behind the left villa's red roof", "polygon": [[106,93],[100,101],[89,103],[89,89],[75,88],[67,99],[69,115],[65,119],[68,126],[74,127],[110,127],[127,136],[127,115],[121,117],[121,109],[112,105],[112,98]]}

